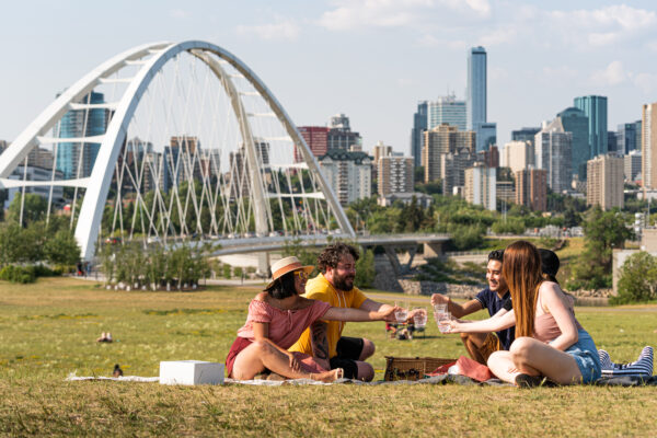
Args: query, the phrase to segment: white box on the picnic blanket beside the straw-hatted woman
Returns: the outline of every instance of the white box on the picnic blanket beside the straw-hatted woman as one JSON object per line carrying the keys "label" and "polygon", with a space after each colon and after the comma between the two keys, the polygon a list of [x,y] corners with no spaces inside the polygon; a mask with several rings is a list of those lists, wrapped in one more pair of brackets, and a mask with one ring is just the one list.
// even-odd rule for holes
{"label": "white box on the picnic blanket beside the straw-hatted woman", "polygon": [[160,362],[162,384],[223,384],[223,364],[204,360]]}

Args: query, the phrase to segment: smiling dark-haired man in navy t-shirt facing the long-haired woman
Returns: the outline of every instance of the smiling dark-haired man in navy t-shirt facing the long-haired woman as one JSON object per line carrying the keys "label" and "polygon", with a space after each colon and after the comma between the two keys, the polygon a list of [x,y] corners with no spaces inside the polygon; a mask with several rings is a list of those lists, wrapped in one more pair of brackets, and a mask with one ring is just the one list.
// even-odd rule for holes
{"label": "smiling dark-haired man in navy t-shirt facing the long-haired woman", "polygon": [[[434,293],[431,304],[447,304],[449,312],[454,318],[463,318],[482,309],[487,309],[491,316],[496,315],[505,307],[510,310],[510,293],[502,276],[502,262],[504,250],[495,250],[488,254],[486,265],[486,280],[488,287],[482,290],[463,304],[453,302],[449,297]],[[500,312],[500,314],[506,311]],[[486,364],[493,351],[508,350],[514,342],[514,327],[500,330],[497,333],[461,333],[461,341],[470,357],[480,364]]]}

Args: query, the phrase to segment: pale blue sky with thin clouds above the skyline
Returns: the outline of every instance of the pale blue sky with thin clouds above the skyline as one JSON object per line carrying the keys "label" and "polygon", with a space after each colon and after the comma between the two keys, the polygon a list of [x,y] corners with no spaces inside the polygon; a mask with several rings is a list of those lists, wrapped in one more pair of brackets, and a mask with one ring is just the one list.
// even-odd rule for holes
{"label": "pale blue sky with thin clouds above the skyline", "polygon": [[350,117],[369,150],[408,151],[419,100],[464,99],[468,50],[488,51],[498,141],[573,97],[609,97],[609,128],[657,101],[653,1],[24,1],[2,7],[0,139],[55,94],[129,47],[204,39],[232,51],[297,125]]}

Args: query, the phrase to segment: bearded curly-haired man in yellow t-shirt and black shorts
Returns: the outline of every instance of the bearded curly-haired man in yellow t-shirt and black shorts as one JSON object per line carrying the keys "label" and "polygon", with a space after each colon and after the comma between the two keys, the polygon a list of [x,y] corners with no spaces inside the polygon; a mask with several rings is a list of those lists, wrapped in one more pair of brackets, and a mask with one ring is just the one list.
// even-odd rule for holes
{"label": "bearded curly-haired man in yellow t-shirt and black shorts", "polygon": [[[322,273],[308,281],[303,297],[337,308],[366,311],[390,308],[368,299],[354,286],[357,260],[358,251],[354,246],[345,243],[326,246],[318,257],[318,268]],[[326,369],[342,368],[347,379],[372,380],[374,369],[365,359],[374,354],[374,344],[361,337],[343,336],[344,327],[345,322],[342,321],[318,321],[289,350],[311,355]]]}

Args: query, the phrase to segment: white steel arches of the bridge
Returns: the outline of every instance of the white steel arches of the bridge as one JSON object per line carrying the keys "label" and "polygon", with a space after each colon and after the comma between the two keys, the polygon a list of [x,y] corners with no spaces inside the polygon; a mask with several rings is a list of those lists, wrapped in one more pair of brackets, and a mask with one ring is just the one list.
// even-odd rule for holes
{"label": "white steel arches of the bridge", "polygon": [[[288,136],[301,151],[301,154],[310,172],[316,178],[324,198],[337,221],[343,234],[355,237],[354,230],[342,209],[333,189],[320,171],[318,161],[310,151],[303,137],[299,134],[291,118],[288,116],[283,105],[276,100],[274,94],[267,89],[264,82],[253,72],[244,62],[228,50],[207,42],[188,41],[183,43],[153,43],[135,47],[124,51],[110,60],[101,64],[91,72],[81,78],[78,82],[67,89],[59,97],[53,102],[18,138],[12,145],[0,154],[0,186],[16,186],[18,182],[9,180],[9,174],[16,168],[27,154],[39,142],[39,138],[46,136],[55,124],[70,110],[76,107],[76,100],[90,93],[94,87],[104,79],[117,72],[127,65],[141,64],[138,72],[130,80],[120,101],[116,104],[114,115],[102,136],[102,142],[99,149],[93,170],[89,177],[78,177],[68,181],[49,182],[50,185],[67,185],[74,187],[84,187],[84,200],[80,209],[80,216],[76,227],[76,238],[82,250],[82,256],[91,260],[95,252],[95,242],[99,237],[103,209],[107,199],[107,194],[112,183],[113,170],[117,163],[118,155],[124,141],[126,140],[129,122],[137,110],[137,106],[146,93],[154,76],[163,66],[177,56],[187,51],[204,61],[210,70],[217,76],[224,87],[231,105],[238,120],[240,130],[245,141],[246,162],[250,169],[250,176],[257,178],[260,173],[255,171],[255,147],[253,145],[253,135],[250,132],[249,119],[241,106],[239,93],[232,85],[231,78],[226,74],[217,58],[230,64],[257,90],[261,96],[267,102],[280,124],[285,127]],[[152,55],[146,61],[142,58]],[[215,58],[216,57],[216,58]],[[27,184],[25,184],[27,185]],[[48,185],[48,182],[31,183],[30,185]],[[262,184],[254,184],[254,210],[255,228],[257,232],[266,233],[266,220],[264,218],[265,194],[257,191]]]}

